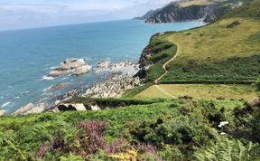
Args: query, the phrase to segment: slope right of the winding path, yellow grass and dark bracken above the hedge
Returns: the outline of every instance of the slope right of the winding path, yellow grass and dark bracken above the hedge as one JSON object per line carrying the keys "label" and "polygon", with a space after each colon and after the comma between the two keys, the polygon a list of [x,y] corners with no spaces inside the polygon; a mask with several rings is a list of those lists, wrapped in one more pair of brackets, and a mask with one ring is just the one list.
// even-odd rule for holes
{"label": "slope right of the winding path, yellow grass and dark bracken above the hedge", "polygon": [[[228,24],[239,21],[234,28]],[[180,45],[164,81],[243,83],[260,77],[260,21],[231,18],[205,27],[164,36]],[[232,60],[232,58],[234,58]]]}

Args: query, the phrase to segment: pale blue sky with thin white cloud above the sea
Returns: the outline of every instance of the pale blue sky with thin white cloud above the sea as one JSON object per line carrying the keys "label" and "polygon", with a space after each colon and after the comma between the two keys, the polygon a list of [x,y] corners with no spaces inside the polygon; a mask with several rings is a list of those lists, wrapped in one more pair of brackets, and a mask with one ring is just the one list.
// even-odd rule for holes
{"label": "pale blue sky with thin white cloud above the sea", "polygon": [[0,0],[0,30],[131,19],[172,0]]}

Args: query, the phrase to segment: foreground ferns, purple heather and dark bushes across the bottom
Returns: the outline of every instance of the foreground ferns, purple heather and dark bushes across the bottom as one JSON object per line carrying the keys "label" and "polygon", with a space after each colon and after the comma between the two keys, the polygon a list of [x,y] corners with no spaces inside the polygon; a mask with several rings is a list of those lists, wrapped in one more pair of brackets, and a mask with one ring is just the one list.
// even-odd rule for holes
{"label": "foreground ferns, purple heather and dark bushes across the bottom", "polygon": [[[4,117],[0,160],[259,158],[257,102],[161,99],[103,111]],[[228,125],[219,128],[222,121]],[[227,144],[230,150],[223,148]]]}

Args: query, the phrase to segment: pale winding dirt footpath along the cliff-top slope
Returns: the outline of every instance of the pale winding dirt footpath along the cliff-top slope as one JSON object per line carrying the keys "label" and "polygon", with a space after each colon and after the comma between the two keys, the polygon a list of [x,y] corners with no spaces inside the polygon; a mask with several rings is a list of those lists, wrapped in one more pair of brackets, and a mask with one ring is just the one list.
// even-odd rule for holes
{"label": "pale winding dirt footpath along the cliff-top slope", "polygon": [[166,65],[168,65],[170,62],[172,62],[180,53],[180,45],[177,45],[177,51],[175,53],[175,55],[172,57],[171,60],[169,60],[168,62],[165,62],[163,64],[163,70],[165,71],[163,73],[163,75],[161,75],[158,79],[154,80],[154,83],[155,83],[155,87],[158,89],[158,90],[161,90],[164,94],[166,94],[167,96],[171,97],[172,99],[177,99],[176,97],[172,96],[172,94],[168,93],[167,91],[163,90],[158,84],[160,84],[160,80],[163,79],[163,77],[168,74],[168,70],[166,69]]}

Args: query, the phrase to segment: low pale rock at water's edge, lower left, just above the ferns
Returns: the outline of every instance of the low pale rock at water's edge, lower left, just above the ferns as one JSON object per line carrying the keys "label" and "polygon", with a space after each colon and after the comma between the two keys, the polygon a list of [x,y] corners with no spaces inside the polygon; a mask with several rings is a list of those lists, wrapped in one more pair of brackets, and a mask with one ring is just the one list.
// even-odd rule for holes
{"label": "low pale rock at water's edge, lower left, just above the ferns", "polygon": [[39,105],[34,105],[33,103],[28,103],[27,105],[21,107],[20,109],[17,109],[13,113],[13,115],[17,116],[17,115],[42,113],[45,108],[46,108],[46,103],[41,103]]}

